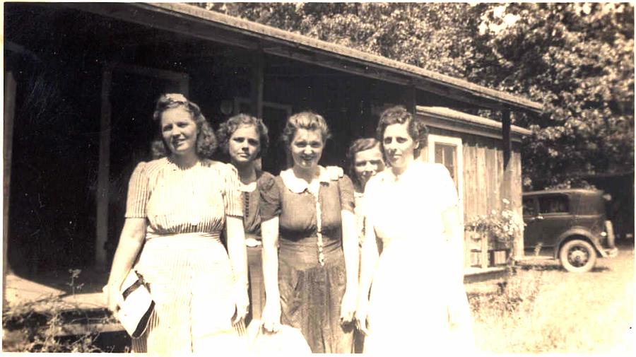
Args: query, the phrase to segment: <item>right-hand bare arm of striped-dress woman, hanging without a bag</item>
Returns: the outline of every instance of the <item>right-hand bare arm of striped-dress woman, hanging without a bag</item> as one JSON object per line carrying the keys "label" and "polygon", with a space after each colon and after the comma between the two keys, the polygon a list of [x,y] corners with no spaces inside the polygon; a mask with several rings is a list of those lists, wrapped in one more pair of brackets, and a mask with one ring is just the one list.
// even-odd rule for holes
{"label": "right-hand bare arm of striped-dress woman, hanging without a bag", "polygon": [[245,248],[245,230],[241,217],[225,217],[225,237],[228,240],[228,256],[232,264],[235,279],[236,317],[239,322],[247,315],[249,296],[247,295],[247,250]]}

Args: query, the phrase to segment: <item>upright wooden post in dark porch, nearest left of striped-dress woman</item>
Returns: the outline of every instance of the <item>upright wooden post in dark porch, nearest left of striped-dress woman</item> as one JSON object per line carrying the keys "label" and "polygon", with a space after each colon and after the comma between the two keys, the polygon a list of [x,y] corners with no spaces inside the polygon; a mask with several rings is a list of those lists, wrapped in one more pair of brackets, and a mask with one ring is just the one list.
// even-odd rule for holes
{"label": "upright wooden post in dark porch, nearest left of striped-dress woman", "polygon": [[100,161],[97,189],[97,231],[95,232],[95,267],[107,267],[105,243],[108,240],[108,187],[110,185],[110,88],[112,69],[104,69],[102,75],[102,110],[100,119]]}

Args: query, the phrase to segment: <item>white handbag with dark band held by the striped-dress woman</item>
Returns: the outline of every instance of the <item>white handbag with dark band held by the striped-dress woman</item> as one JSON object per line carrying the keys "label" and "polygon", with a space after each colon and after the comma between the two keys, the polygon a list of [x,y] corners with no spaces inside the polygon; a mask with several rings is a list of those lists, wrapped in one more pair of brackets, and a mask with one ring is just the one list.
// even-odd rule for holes
{"label": "white handbag with dark band held by the striped-dress woman", "polygon": [[119,305],[117,320],[132,338],[139,338],[146,332],[155,302],[148,291],[146,282],[143,281],[143,276],[134,269],[131,269],[124,279],[121,292],[124,302]]}

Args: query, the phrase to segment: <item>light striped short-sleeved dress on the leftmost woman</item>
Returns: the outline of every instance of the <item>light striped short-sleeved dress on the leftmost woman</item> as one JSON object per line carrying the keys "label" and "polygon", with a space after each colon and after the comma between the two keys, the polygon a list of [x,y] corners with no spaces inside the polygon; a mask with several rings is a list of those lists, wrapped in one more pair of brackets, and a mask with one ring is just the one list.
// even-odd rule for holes
{"label": "light striped short-sleeved dress on the leftmost woman", "polygon": [[126,218],[146,218],[146,242],[134,269],[148,281],[155,309],[133,351],[181,354],[235,351],[231,319],[237,291],[220,241],[225,216],[242,216],[232,166],[201,160],[182,168],[169,158],[139,163]]}

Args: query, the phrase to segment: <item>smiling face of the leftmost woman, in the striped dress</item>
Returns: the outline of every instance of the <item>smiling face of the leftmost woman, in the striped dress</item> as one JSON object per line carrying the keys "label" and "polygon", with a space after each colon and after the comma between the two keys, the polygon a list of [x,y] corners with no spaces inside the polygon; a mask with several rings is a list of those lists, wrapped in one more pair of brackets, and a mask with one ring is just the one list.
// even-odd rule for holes
{"label": "smiling face of the leftmost woman, in the striped dress", "polygon": [[183,107],[168,109],[161,114],[161,135],[171,153],[196,152],[197,134],[199,129],[192,114]]}

